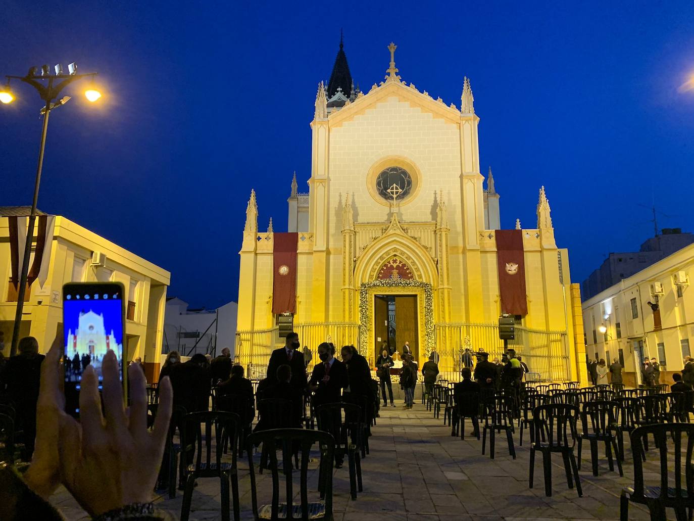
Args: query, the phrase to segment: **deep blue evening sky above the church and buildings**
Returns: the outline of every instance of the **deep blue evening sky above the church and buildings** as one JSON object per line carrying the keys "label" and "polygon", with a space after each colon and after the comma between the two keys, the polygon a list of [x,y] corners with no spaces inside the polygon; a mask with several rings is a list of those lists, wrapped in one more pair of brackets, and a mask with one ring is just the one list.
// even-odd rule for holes
{"label": "deep blue evening sky above the church and buildings", "polygon": [[[76,61],[105,90],[98,108],[71,90],[51,114],[39,207],[170,270],[169,295],[192,306],[237,299],[251,188],[260,229],[286,230],[340,28],[362,89],[382,80],[391,40],[403,80],[446,104],[471,78],[502,227],[534,227],[545,185],[573,281],[652,235],[640,205],[694,231],[694,91],[678,92],[694,73],[691,1],[6,0],[0,26],[0,74]],[[41,130],[37,94],[15,87],[0,205],[31,204]]]}

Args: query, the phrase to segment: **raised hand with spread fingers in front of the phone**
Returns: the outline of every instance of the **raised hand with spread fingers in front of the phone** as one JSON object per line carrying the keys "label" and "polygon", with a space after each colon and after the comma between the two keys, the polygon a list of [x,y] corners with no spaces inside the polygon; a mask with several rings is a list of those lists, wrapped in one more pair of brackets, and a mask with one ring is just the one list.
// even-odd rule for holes
{"label": "raised hand with spread fingers in front of the phone", "polygon": [[94,367],[82,376],[80,422],[60,430],[62,482],[90,513],[102,513],[133,503],[149,503],[169,431],[173,392],[168,377],[159,385],[159,406],[153,431],[147,431],[147,395],[139,365],[128,367],[131,405],[123,404],[115,353],[103,357],[103,404]]}

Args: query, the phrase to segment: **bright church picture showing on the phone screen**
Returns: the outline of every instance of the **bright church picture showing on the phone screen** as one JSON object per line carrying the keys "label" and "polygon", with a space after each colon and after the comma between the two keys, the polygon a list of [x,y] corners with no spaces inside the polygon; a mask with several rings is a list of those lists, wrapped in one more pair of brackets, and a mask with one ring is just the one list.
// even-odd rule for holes
{"label": "bright church picture showing on the phone screen", "polygon": [[[78,382],[87,365],[102,379],[101,363],[109,350],[123,364],[121,302],[65,301],[65,381]],[[121,372],[122,374],[122,372]]]}

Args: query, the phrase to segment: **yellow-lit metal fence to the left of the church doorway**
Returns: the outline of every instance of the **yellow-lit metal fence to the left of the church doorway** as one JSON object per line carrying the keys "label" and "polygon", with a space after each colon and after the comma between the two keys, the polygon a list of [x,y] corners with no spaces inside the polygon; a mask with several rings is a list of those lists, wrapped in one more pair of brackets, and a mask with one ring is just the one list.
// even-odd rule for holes
{"label": "yellow-lit metal fence to the left of the church doorway", "polygon": [[[319,360],[318,346],[321,342],[335,344],[339,356],[339,349],[344,345],[354,345],[359,348],[359,324],[349,322],[305,322],[294,324],[294,332],[298,333],[301,348],[308,347],[311,352],[311,361],[308,370],[313,369]],[[278,329],[266,329],[262,331],[237,331],[236,332],[236,361],[246,368],[248,378],[264,378],[267,365],[273,349],[285,345],[284,338],[278,336]]]}

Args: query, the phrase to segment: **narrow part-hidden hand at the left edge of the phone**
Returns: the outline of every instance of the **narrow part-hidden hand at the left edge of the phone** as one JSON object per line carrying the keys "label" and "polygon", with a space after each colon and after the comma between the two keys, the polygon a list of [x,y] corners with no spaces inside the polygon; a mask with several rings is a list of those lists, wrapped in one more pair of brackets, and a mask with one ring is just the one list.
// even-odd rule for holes
{"label": "narrow part-hidden hand at the left edge of the phone", "polygon": [[48,499],[60,484],[58,434],[61,424],[71,420],[65,413],[62,393],[62,325],[56,330],[51,349],[41,364],[39,400],[36,404],[36,442],[24,481],[35,493]]}

